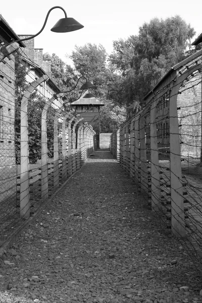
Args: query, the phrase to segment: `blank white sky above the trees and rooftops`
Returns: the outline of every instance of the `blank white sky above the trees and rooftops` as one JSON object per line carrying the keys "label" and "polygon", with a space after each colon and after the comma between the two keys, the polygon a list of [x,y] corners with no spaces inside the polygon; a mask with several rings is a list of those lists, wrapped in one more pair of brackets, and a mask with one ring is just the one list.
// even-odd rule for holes
{"label": "blank white sky above the trees and rooftops", "polygon": [[61,6],[68,17],[73,17],[84,28],[69,33],[54,33],[50,29],[64,12],[54,9],[44,30],[34,39],[35,48],[43,53],[55,53],[69,63],[74,46],[85,43],[102,44],[108,54],[113,51],[113,40],[127,38],[138,33],[139,26],[157,17],[166,19],[180,15],[195,29],[202,32],[201,0],[27,0],[1,1],[0,14],[17,34],[36,34],[42,27],[46,14],[54,6]]}

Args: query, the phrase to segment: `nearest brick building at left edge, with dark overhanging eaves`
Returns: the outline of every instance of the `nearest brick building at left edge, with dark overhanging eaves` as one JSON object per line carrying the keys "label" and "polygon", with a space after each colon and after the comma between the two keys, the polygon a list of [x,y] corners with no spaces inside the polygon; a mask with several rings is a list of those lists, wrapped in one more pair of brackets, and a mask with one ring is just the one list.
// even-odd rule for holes
{"label": "nearest brick building at left edge, with dark overhanging eaves", "polygon": [[[19,39],[6,20],[0,16],[0,43]],[[24,47],[24,43],[20,42]],[[11,54],[0,62],[0,166],[15,165],[15,57]]]}

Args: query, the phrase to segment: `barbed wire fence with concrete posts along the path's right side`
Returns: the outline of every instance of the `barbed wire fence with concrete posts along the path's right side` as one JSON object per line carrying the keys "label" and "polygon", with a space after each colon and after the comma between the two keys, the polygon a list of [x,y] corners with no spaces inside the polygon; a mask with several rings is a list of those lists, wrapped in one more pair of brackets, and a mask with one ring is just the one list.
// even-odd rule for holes
{"label": "barbed wire fence with concrete posts along the path's right side", "polygon": [[111,152],[196,260],[202,256],[201,52],[176,65],[144,101],[112,134]]}

